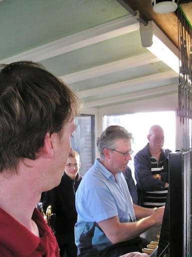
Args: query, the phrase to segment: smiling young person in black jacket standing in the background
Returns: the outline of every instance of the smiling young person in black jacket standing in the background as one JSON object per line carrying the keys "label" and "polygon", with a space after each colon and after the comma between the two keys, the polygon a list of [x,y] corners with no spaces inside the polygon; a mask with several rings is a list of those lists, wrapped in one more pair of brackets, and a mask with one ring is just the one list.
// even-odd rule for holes
{"label": "smiling young person in black jacket standing in the background", "polygon": [[75,193],[81,182],[79,154],[73,151],[65,166],[65,171],[59,186],[45,194],[43,200],[44,212],[49,205],[56,214],[55,235],[60,247],[60,256],[66,252],[67,257],[77,256],[77,247],[74,238],[74,225],[77,221],[75,209]]}

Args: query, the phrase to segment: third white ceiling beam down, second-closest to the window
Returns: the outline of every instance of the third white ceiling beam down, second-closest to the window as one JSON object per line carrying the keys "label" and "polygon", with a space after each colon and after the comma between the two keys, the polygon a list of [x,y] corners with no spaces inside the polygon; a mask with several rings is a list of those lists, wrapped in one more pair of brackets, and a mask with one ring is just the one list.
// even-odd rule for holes
{"label": "third white ceiling beam down, second-closest to the window", "polygon": [[177,76],[178,76],[178,74],[173,70],[165,71],[165,72],[158,72],[158,73],[155,73],[152,75],[147,75],[147,76],[143,76],[143,77],[139,77],[139,78],[134,78],[134,79],[125,80],[122,82],[105,85],[102,87],[79,91],[79,92],[77,92],[77,94],[80,98],[88,97],[88,96],[92,96],[92,95],[98,95],[98,93],[106,95],[107,92],[109,92],[109,90],[117,90],[117,92],[118,92],[119,88],[123,89],[125,87],[127,88],[127,87],[133,86],[133,85],[143,85],[144,83],[149,84],[149,83],[153,83],[157,80],[170,79],[170,78],[175,78]]}

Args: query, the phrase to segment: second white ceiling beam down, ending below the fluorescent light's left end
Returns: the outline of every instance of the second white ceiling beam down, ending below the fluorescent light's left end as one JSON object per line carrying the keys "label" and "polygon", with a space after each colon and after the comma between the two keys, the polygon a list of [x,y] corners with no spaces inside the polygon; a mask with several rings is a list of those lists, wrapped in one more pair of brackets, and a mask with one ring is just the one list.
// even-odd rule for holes
{"label": "second white ceiling beam down, ending below the fluorescent light's left end", "polygon": [[122,59],[116,62],[100,65],[94,68],[74,72],[74,73],[62,76],[60,78],[63,81],[67,82],[68,84],[71,84],[77,81],[99,77],[102,75],[110,74],[110,73],[125,70],[125,69],[131,69],[131,68],[146,65],[149,63],[154,63],[157,61],[159,61],[159,59],[156,56],[154,56],[152,53],[148,52],[146,54],[133,56],[133,57]]}

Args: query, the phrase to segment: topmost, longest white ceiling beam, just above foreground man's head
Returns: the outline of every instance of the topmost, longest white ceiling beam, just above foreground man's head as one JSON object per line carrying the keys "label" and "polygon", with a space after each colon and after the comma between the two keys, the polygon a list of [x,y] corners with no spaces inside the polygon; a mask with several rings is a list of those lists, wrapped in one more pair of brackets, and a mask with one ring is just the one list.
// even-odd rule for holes
{"label": "topmost, longest white ceiling beam, just above foreground man's head", "polygon": [[54,42],[33,48],[10,58],[1,60],[10,63],[20,60],[40,62],[76,49],[139,30],[139,22],[132,15],[77,32]]}

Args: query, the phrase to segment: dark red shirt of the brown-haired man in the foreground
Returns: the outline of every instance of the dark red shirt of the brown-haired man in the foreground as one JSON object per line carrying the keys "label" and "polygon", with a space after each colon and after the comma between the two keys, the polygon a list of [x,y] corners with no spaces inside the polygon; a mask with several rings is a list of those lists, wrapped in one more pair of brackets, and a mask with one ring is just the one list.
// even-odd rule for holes
{"label": "dark red shirt of the brown-haired man in the foreground", "polygon": [[1,257],[59,257],[56,238],[37,208],[32,219],[39,228],[40,237],[0,208]]}

